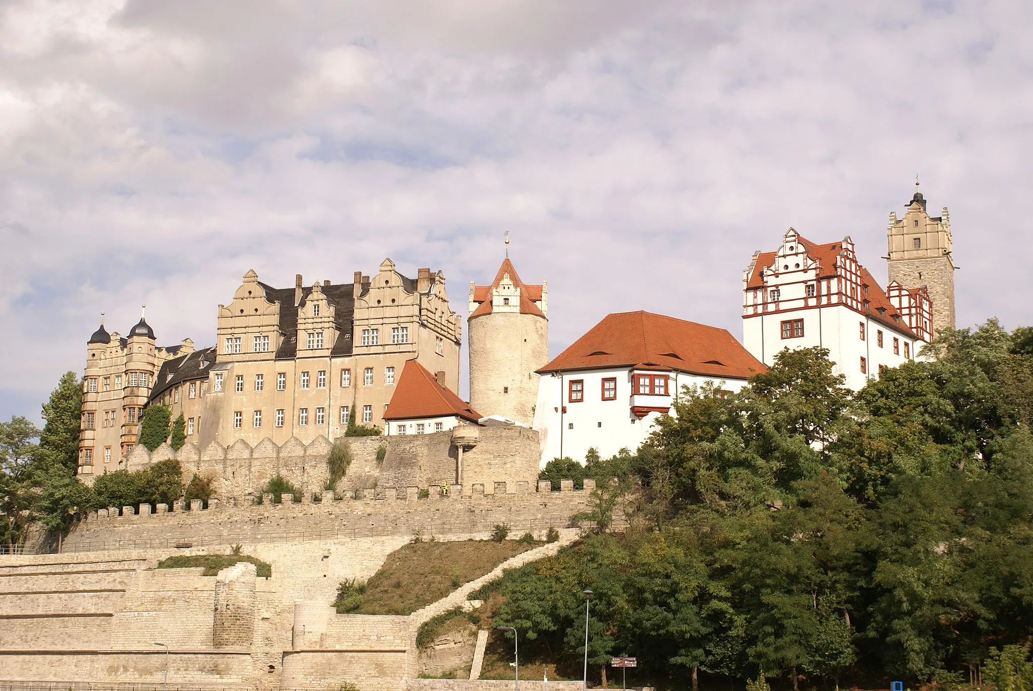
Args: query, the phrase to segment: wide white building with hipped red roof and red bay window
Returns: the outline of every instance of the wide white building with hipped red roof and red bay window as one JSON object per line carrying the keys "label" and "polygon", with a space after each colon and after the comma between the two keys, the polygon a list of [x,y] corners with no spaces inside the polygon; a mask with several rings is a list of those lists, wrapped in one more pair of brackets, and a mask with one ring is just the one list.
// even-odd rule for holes
{"label": "wide white building with hipped red roof and red bay window", "polygon": [[727,331],[649,312],[607,315],[538,370],[542,464],[634,452],[682,386],[737,391],[765,367]]}

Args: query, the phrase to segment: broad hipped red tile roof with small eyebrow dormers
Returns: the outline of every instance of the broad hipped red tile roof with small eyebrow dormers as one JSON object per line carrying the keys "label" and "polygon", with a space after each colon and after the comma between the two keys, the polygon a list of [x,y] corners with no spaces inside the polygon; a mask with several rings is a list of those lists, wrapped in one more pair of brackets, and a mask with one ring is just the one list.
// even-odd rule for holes
{"label": "broad hipped red tile roof with small eyebrow dormers", "polygon": [[746,379],[765,372],[724,328],[650,312],[609,314],[540,373],[633,367]]}

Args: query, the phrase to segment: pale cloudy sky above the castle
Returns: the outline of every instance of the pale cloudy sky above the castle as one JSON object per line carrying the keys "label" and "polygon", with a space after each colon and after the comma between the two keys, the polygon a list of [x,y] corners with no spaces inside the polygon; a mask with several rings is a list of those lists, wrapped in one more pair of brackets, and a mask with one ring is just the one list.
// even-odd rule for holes
{"label": "pale cloudy sky above the castle", "polygon": [[214,344],[249,269],[440,269],[465,322],[506,230],[553,355],[639,309],[741,339],[790,226],[884,283],[915,176],[959,326],[1033,323],[1031,31],[1018,0],[4,0],[0,419],[101,311]]}

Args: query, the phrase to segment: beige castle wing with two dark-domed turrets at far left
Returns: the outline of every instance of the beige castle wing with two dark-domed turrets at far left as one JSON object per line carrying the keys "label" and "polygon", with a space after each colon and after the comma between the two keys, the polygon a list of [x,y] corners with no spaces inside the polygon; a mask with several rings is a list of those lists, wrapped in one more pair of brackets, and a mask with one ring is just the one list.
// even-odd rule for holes
{"label": "beige castle wing with two dark-domed turrets at far left", "polygon": [[79,472],[82,475],[117,470],[132,450],[139,417],[161,367],[193,352],[193,341],[155,345],[154,332],[144,316],[125,337],[108,334],[103,319],[86,346],[83,373],[83,410]]}

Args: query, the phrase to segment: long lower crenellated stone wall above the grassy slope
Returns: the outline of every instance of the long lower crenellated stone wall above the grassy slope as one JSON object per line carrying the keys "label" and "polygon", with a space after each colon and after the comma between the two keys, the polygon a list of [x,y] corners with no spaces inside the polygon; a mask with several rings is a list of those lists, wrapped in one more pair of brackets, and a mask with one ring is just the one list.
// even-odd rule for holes
{"label": "long lower crenellated stone wall above the grassy slope", "polygon": [[[261,504],[253,496],[211,500],[208,508],[198,500],[186,506],[151,504],[111,507],[92,511],[72,526],[62,552],[113,549],[188,549],[211,545],[262,542],[334,541],[369,537],[425,538],[488,536],[496,525],[505,524],[510,536],[526,532],[542,537],[550,528],[575,527],[573,516],[586,511],[595,481],[585,480],[585,490],[574,491],[572,480],[563,480],[560,492],[552,492],[547,480],[529,488],[527,482],[493,483],[493,494],[475,486],[464,495],[452,485],[447,495],[431,486],[388,491],[377,499],[373,490],[362,499],[313,501],[303,494],[299,502],[283,495],[274,504],[265,495]],[[420,498],[424,496],[424,498]],[[465,539],[465,538],[464,538]]]}

